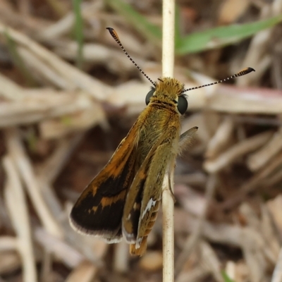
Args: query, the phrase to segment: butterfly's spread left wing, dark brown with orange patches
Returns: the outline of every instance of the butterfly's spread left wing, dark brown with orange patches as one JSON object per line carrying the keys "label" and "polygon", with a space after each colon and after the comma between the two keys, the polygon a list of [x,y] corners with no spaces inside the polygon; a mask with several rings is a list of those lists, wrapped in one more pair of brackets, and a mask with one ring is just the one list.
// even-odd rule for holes
{"label": "butterfly's spread left wing, dark brown with orange patches", "polygon": [[121,218],[135,176],[136,123],[121,141],[108,164],[75,203],[70,222],[80,233],[100,236],[108,243],[121,240]]}

